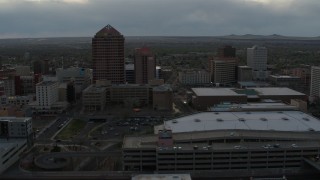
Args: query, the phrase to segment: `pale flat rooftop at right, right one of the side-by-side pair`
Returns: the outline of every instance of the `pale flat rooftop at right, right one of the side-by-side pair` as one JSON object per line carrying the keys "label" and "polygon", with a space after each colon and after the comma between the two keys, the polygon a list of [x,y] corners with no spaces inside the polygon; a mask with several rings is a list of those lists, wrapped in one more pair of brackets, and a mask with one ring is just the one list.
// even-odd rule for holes
{"label": "pale flat rooftop at right, right one of the side-by-side pair", "polygon": [[258,92],[259,96],[304,96],[305,94],[286,87],[250,88]]}

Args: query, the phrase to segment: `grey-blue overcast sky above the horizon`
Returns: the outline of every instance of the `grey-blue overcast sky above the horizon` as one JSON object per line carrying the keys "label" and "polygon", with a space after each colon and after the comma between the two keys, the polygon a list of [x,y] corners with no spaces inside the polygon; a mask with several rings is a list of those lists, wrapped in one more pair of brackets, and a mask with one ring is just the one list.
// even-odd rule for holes
{"label": "grey-blue overcast sky above the horizon", "polygon": [[319,0],[0,0],[0,38],[320,36]]}

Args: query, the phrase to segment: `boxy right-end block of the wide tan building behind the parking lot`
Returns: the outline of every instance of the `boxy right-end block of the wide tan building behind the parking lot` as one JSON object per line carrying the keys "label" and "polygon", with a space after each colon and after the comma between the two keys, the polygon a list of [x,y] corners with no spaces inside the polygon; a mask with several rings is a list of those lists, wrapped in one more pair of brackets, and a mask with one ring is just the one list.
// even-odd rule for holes
{"label": "boxy right-end block of the wide tan building behind the parking lot", "polygon": [[173,92],[169,84],[153,88],[153,109],[171,111],[173,104]]}

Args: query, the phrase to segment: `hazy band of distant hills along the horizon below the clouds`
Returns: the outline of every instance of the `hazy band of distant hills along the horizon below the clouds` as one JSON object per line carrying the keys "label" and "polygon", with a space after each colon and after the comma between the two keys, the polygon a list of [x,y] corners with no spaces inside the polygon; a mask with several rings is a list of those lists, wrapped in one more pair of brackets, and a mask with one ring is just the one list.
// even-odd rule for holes
{"label": "hazy band of distant hills along the horizon below the clouds", "polygon": [[[61,44],[61,45],[72,45],[72,44],[91,44],[92,37],[56,37],[56,38],[17,38],[17,39],[0,39],[0,45],[16,45],[16,44]],[[125,36],[125,42],[130,43],[213,43],[221,41],[320,41],[318,37],[293,37],[283,36],[278,34],[272,35],[226,35],[226,36]],[[318,42],[317,42],[318,43]]]}

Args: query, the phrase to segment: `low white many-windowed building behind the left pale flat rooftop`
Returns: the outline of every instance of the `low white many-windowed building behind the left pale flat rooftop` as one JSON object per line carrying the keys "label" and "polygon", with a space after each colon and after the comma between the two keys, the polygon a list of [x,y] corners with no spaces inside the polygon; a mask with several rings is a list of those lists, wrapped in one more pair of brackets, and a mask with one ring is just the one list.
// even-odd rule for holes
{"label": "low white many-windowed building behind the left pale flat rooftop", "polygon": [[206,71],[179,72],[179,82],[185,85],[209,84],[210,73]]}

